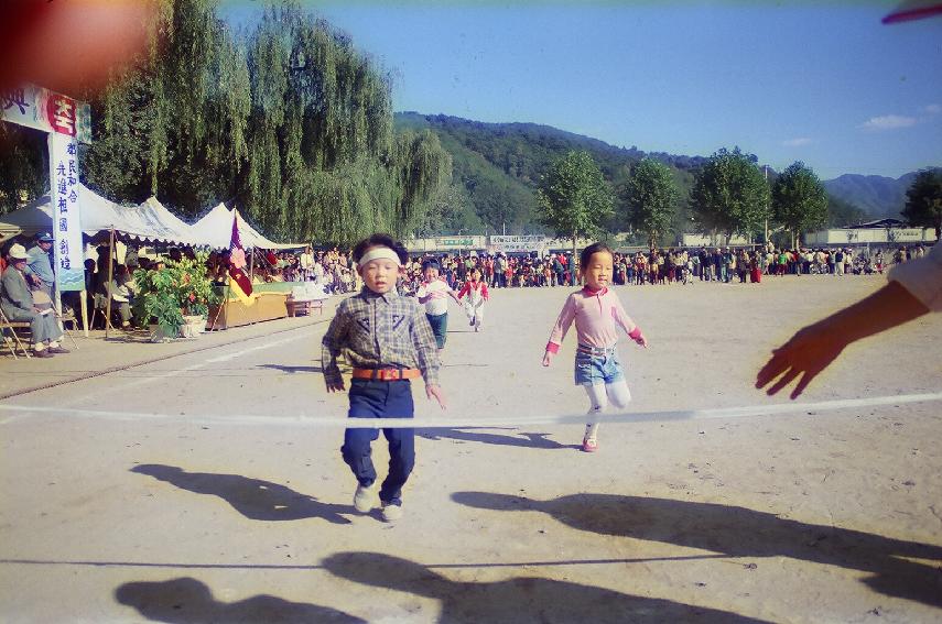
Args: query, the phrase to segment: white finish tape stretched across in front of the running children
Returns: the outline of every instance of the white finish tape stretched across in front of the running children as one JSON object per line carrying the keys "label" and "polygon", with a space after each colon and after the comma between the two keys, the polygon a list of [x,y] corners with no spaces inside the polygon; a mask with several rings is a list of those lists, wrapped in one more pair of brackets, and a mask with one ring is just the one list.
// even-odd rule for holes
{"label": "white finish tape stretched across in front of the running children", "polygon": [[[881,405],[901,405],[905,403],[925,403],[942,401],[942,392],[929,394],[901,394],[896,396],[874,396],[869,398],[842,398],[819,403],[778,403],[772,405],[751,405],[747,407],[717,407],[714,409],[685,409],[664,412],[620,412],[604,413],[602,422],[609,423],[659,423],[665,420],[706,420],[716,418],[743,418],[747,416],[773,416],[778,414],[801,414],[878,407]],[[69,417],[99,418],[106,420],[181,420],[190,424],[219,425],[302,425],[304,427],[337,427],[346,429],[468,429],[476,428],[521,428],[532,425],[583,424],[586,415],[564,416],[537,415],[515,418],[478,418],[464,420],[455,416],[436,418],[321,418],[299,414],[297,416],[262,416],[255,414],[219,415],[180,415],[148,414],[141,412],[105,412],[96,409],[71,409],[62,407],[32,407],[29,405],[0,405],[0,412],[13,412],[0,425],[6,425],[26,414],[56,414]]]}

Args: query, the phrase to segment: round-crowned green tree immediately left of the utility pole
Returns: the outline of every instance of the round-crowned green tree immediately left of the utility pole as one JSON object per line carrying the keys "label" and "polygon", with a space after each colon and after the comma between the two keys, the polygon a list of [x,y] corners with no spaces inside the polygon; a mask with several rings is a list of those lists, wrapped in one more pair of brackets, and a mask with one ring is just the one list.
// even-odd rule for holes
{"label": "round-crowned green tree immediately left of the utility pole", "polygon": [[694,175],[690,204],[704,231],[734,233],[759,231],[769,215],[769,186],[756,157],[738,147],[714,153]]}

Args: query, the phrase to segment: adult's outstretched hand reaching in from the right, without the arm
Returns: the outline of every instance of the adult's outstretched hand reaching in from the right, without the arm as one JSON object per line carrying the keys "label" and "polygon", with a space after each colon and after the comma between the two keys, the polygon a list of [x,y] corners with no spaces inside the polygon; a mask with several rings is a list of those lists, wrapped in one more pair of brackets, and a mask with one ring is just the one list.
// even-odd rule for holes
{"label": "adult's outstretched hand reaching in from the right, without the arm", "polygon": [[771,359],[756,376],[756,387],[761,388],[781,375],[766,391],[771,396],[801,375],[791,392],[791,398],[795,398],[847,344],[844,332],[834,327],[830,319],[800,329],[788,342],[772,350]]}

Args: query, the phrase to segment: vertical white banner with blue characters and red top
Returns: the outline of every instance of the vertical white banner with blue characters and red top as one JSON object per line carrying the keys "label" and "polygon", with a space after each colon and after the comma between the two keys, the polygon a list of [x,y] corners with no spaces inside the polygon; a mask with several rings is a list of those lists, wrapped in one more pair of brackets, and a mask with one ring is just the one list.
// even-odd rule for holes
{"label": "vertical white banner with blue characters and red top", "polygon": [[78,186],[76,102],[53,94],[46,102],[50,183],[52,199],[54,271],[61,293],[85,289],[85,253],[82,244]]}

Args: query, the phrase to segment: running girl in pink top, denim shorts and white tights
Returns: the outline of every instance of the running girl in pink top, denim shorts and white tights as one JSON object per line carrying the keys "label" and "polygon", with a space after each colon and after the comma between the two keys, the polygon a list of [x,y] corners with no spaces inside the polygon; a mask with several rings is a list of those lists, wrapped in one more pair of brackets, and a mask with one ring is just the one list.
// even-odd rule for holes
{"label": "running girl in pink top, denim shorts and white tights", "polygon": [[641,347],[648,347],[641,329],[625,313],[615,292],[608,289],[613,259],[611,250],[604,243],[593,243],[583,250],[580,272],[585,280],[585,287],[566,299],[543,354],[543,365],[549,366],[575,321],[578,336],[575,383],[585,387],[592,402],[589,422],[586,423],[582,440],[582,450],[585,452],[598,449],[598,416],[608,402],[625,409],[631,401],[631,392],[618,360],[618,328]]}

